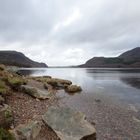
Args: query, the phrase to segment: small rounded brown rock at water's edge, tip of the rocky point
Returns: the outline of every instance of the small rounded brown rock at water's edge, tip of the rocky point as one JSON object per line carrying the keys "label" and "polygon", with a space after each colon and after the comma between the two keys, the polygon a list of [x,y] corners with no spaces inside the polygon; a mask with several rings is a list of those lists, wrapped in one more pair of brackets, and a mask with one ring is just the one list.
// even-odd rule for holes
{"label": "small rounded brown rock at water's edge, tip of the rocky point", "polygon": [[82,88],[80,86],[77,86],[77,85],[70,85],[70,86],[66,87],[65,91],[68,93],[75,93],[75,92],[82,91]]}

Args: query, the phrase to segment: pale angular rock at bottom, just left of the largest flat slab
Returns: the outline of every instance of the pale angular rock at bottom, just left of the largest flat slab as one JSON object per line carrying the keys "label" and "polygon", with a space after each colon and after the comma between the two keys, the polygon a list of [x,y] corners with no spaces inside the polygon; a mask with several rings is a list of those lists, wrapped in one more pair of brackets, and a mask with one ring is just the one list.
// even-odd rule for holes
{"label": "pale angular rock at bottom, just left of the largest flat slab", "polygon": [[20,124],[13,130],[16,140],[34,140],[41,130],[42,124],[37,121],[31,121],[27,124]]}

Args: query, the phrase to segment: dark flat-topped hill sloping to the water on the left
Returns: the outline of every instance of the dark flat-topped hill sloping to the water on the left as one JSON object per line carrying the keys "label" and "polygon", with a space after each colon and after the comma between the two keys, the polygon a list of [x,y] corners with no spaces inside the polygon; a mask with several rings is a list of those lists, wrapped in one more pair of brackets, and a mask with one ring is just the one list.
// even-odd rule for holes
{"label": "dark flat-topped hill sloping to the water on the left", "polygon": [[0,64],[19,67],[47,67],[45,63],[35,62],[17,51],[0,51]]}

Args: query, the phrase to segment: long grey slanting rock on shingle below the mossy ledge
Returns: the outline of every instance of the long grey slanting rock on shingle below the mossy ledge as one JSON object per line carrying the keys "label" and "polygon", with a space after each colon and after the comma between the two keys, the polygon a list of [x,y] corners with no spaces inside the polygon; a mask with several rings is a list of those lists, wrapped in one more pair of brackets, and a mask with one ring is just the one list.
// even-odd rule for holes
{"label": "long grey slanting rock on shingle below the mossy ledge", "polygon": [[38,99],[50,99],[52,94],[29,85],[22,85],[21,90]]}

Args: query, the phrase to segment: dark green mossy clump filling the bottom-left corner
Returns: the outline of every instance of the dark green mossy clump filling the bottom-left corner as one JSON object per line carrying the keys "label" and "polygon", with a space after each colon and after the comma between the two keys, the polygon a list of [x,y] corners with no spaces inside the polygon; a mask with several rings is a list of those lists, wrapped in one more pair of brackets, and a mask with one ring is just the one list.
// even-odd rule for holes
{"label": "dark green mossy clump filling the bottom-left corner", "polygon": [[15,140],[15,138],[8,130],[0,128],[0,140]]}

